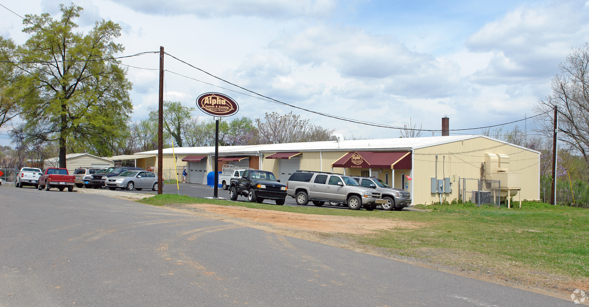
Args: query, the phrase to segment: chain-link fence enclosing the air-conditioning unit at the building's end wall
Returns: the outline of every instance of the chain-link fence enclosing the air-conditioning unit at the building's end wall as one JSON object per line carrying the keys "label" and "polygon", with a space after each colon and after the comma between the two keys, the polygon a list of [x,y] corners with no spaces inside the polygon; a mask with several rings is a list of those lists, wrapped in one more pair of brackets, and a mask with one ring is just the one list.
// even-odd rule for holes
{"label": "chain-link fence enclosing the air-conditioning unit at the building's end wall", "polygon": [[499,207],[501,203],[501,185],[499,180],[468,179],[458,180],[459,200],[474,203],[477,206]]}

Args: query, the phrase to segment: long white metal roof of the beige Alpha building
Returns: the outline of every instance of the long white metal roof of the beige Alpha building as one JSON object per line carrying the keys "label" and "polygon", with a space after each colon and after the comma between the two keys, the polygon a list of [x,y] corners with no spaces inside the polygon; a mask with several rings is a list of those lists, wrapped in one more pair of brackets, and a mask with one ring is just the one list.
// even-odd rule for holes
{"label": "long white metal roof of the beige Alpha building", "polygon": [[[406,137],[406,138],[377,138],[372,140],[343,140],[339,144],[337,141],[319,141],[305,143],[283,143],[283,144],[262,144],[262,145],[244,145],[244,146],[219,146],[219,154],[256,154],[259,152],[280,152],[280,151],[352,151],[352,150],[412,150],[436,146],[440,144],[452,143],[455,141],[469,140],[471,138],[484,137],[489,140],[510,144],[495,138],[466,135],[466,136],[437,136],[437,137]],[[511,146],[528,149],[525,147],[510,144]],[[535,153],[540,153],[535,150]],[[176,154],[214,154],[215,147],[176,147]],[[172,154],[172,148],[164,148],[164,154]],[[137,154],[157,154],[157,150],[143,151]]]}

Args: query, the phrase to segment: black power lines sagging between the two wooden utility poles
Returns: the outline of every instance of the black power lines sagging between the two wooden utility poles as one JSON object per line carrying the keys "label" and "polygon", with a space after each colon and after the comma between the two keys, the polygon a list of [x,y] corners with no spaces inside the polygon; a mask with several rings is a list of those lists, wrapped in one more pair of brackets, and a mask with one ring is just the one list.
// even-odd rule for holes
{"label": "black power lines sagging between the two wooden utility poles", "polygon": [[[331,117],[331,118],[335,118],[335,119],[338,119],[338,120],[349,121],[349,122],[351,122],[351,123],[356,123],[356,124],[365,124],[365,125],[368,125],[368,126],[381,127],[381,128],[393,128],[393,129],[399,129],[399,130],[429,131],[429,132],[438,132],[438,131],[442,131],[442,130],[414,129],[414,128],[406,128],[406,127],[396,127],[396,126],[385,125],[385,124],[371,123],[371,122],[369,122],[369,121],[361,121],[361,120],[356,120],[356,119],[353,119],[353,118],[341,117],[341,116],[337,116],[337,115],[332,115],[332,114],[321,113],[321,112],[317,112],[317,111],[309,110],[309,109],[302,108],[302,107],[297,107],[296,105],[292,105],[292,104],[284,103],[284,102],[282,102],[282,101],[279,101],[279,100],[276,100],[276,99],[274,99],[274,98],[267,97],[267,96],[265,96],[265,95],[262,95],[262,94],[256,93],[256,92],[254,92],[254,91],[252,91],[252,90],[248,90],[247,88],[241,87],[240,85],[234,84],[234,83],[232,83],[232,82],[230,82],[230,81],[224,80],[223,78],[217,77],[216,75],[213,75],[213,74],[211,74],[210,72],[207,72],[207,71],[201,70],[200,68],[198,68],[198,67],[196,67],[196,66],[194,66],[194,65],[191,65],[191,64],[189,64],[189,63],[187,63],[187,62],[185,62],[185,61],[183,61],[183,60],[180,60],[179,58],[177,58],[177,57],[174,57],[173,55],[171,55],[171,54],[168,54],[167,52],[164,52],[164,53],[165,53],[165,54],[167,54],[167,55],[169,55],[170,57],[172,57],[172,58],[176,59],[177,61],[183,62],[184,64],[186,64],[186,65],[188,65],[188,66],[190,66],[190,67],[192,67],[192,68],[194,68],[194,69],[196,69],[196,70],[198,70],[198,71],[201,71],[201,72],[204,72],[204,73],[205,73],[205,74],[207,74],[207,75],[210,75],[210,76],[211,76],[211,77],[213,77],[213,78],[216,78],[216,79],[218,79],[218,80],[220,80],[220,81],[223,81],[223,82],[226,82],[226,83],[228,83],[228,84],[231,84],[231,85],[233,85],[234,87],[241,88],[241,89],[242,89],[242,90],[244,90],[244,91],[248,91],[249,93],[252,93],[252,94],[258,95],[258,96],[260,96],[260,97],[263,97],[263,98],[266,98],[266,99],[262,99],[262,98],[259,98],[259,97],[254,97],[254,96],[252,96],[252,95],[244,94],[244,93],[241,93],[241,92],[239,92],[239,91],[233,91],[233,90],[229,90],[228,88],[220,87],[219,85],[210,84],[210,83],[208,83],[208,82],[200,81],[200,80],[197,80],[197,79],[194,79],[194,78],[187,77],[186,75],[181,75],[181,74],[178,74],[177,72],[172,72],[172,71],[170,71],[170,72],[172,72],[173,74],[181,75],[182,77],[190,78],[190,79],[192,79],[192,80],[195,80],[195,81],[199,81],[199,82],[203,82],[203,83],[206,83],[206,84],[209,84],[209,85],[213,85],[214,87],[219,87],[219,88],[223,88],[223,89],[225,89],[225,90],[233,91],[234,93],[239,93],[239,94],[247,95],[247,96],[250,96],[250,97],[254,97],[254,98],[258,98],[258,99],[262,99],[262,100],[270,101],[270,102],[273,102],[273,103],[277,103],[277,104],[286,105],[286,106],[288,106],[288,107],[297,108],[297,109],[299,109],[299,110],[307,111],[307,112],[310,112],[310,113],[315,113],[315,114],[322,115],[322,116],[325,116],[325,117]],[[521,119],[521,120],[515,120],[515,121],[511,121],[511,122],[509,122],[509,123],[503,123],[503,124],[498,124],[498,125],[493,125],[493,126],[487,126],[487,127],[477,127],[477,128],[465,128],[465,129],[452,129],[452,130],[449,130],[449,131],[477,130],[477,129],[484,129],[484,128],[492,128],[492,127],[504,126],[504,125],[507,125],[507,124],[517,123],[518,121],[524,121],[524,120],[528,120],[528,119],[530,119],[530,118],[534,118],[534,117],[540,116],[540,115],[542,115],[542,114],[544,114],[544,113],[540,113],[540,114],[534,115],[534,116],[532,116],[532,117],[523,118],[523,119]]]}

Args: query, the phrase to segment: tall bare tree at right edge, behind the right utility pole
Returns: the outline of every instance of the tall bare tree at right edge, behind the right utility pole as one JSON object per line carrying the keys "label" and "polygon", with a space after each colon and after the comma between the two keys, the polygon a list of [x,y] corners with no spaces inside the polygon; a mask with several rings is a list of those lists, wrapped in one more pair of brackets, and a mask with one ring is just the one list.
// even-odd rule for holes
{"label": "tall bare tree at right edge, behind the right utility pole", "polygon": [[552,94],[534,108],[538,133],[552,137],[553,110],[558,107],[558,140],[589,163],[589,45],[572,48],[561,73],[552,78]]}

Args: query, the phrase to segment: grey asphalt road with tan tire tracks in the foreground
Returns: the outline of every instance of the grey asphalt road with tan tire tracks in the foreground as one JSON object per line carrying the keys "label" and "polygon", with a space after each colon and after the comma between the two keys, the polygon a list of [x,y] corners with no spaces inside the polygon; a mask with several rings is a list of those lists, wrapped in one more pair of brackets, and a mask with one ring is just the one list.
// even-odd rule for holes
{"label": "grey asphalt road with tan tire tracks in the foreground", "polygon": [[0,187],[0,306],[573,302],[94,194]]}

